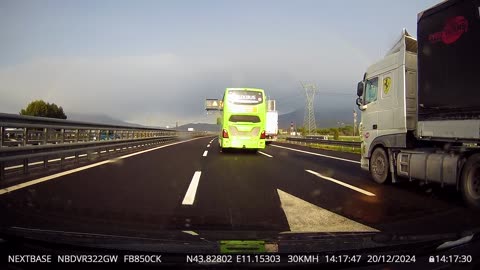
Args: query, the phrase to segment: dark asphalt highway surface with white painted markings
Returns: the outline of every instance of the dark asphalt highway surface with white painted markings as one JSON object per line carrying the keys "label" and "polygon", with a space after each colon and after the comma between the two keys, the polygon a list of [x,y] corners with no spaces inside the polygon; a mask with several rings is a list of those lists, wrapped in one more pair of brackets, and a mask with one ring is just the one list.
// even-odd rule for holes
{"label": "dark asphalt highway surface with white painted markings", "polygon": [[408,182],[378,185],[358,160],[356,154],[285,143],[258,153],[222,153],[215,137],[197,138],[0,189],[0,223],[122,235],[420,234],[480,226],[480,217],[454,190]]}

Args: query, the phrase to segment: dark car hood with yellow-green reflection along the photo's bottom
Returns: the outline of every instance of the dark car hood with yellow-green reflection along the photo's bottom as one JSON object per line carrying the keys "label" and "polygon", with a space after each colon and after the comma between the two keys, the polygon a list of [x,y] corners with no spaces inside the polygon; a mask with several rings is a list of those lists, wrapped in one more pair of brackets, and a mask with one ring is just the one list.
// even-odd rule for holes
{"label": "dark car hood with yellow-green reflection along the photo's bottom", "polygon": [[[412,251],[412,247],[436,249],[455,241],[478,238],[478,230],[430,235],[390,233],[296,233],[270,231],[160,231],[155,235],[110,235],[36,228],[0,229],[3,245],[35,242],[114,251],[166,253],[244,252],[346,252],[358,250]],[[462,239],[468,239],[462,240]],[[463,241],[463,242],[462,242]],[[447,243],[447,244],[446,244]]]}

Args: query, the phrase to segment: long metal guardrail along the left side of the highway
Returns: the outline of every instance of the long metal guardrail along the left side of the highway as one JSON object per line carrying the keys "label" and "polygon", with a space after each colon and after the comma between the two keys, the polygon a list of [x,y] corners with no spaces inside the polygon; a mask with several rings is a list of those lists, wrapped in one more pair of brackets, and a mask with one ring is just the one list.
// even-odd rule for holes
{"label": "long metal guardrail along the left side of the highway", "polygon": [[56,167],[63,169],[67,163],[75,165],[110,154],[205,135],[205,132],[0,113],[0,180],[7,175],[18,176],[18,172],[28,175],[30,168],[50,169],[58,164]]}

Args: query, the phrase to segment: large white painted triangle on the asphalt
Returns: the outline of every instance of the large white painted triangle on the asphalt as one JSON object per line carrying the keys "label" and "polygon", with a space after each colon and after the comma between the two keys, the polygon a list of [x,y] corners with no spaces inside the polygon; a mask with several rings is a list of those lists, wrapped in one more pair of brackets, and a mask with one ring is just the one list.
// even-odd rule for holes
{"label": "large white painted triangle on the asphalt", "polygon": [[280,198],[280,205],[287,218],[288,226],[293,233],[378,232],[375,228],[321,208],[280,189],[277,189],[277,193]]}

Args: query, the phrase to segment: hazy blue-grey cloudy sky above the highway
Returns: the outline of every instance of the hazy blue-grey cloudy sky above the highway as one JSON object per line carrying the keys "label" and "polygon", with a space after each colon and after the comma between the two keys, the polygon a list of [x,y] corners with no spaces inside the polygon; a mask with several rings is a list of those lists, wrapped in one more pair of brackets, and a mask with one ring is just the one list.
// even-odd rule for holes
{"label": "hazy blue-grey cloudy sky above the highway", "polygon": [[0,0],[0,112],[30,101],[167,126],[215,123],[205,98],[256,87],[280,113],[351,111],[365,69],[441,0]]}

